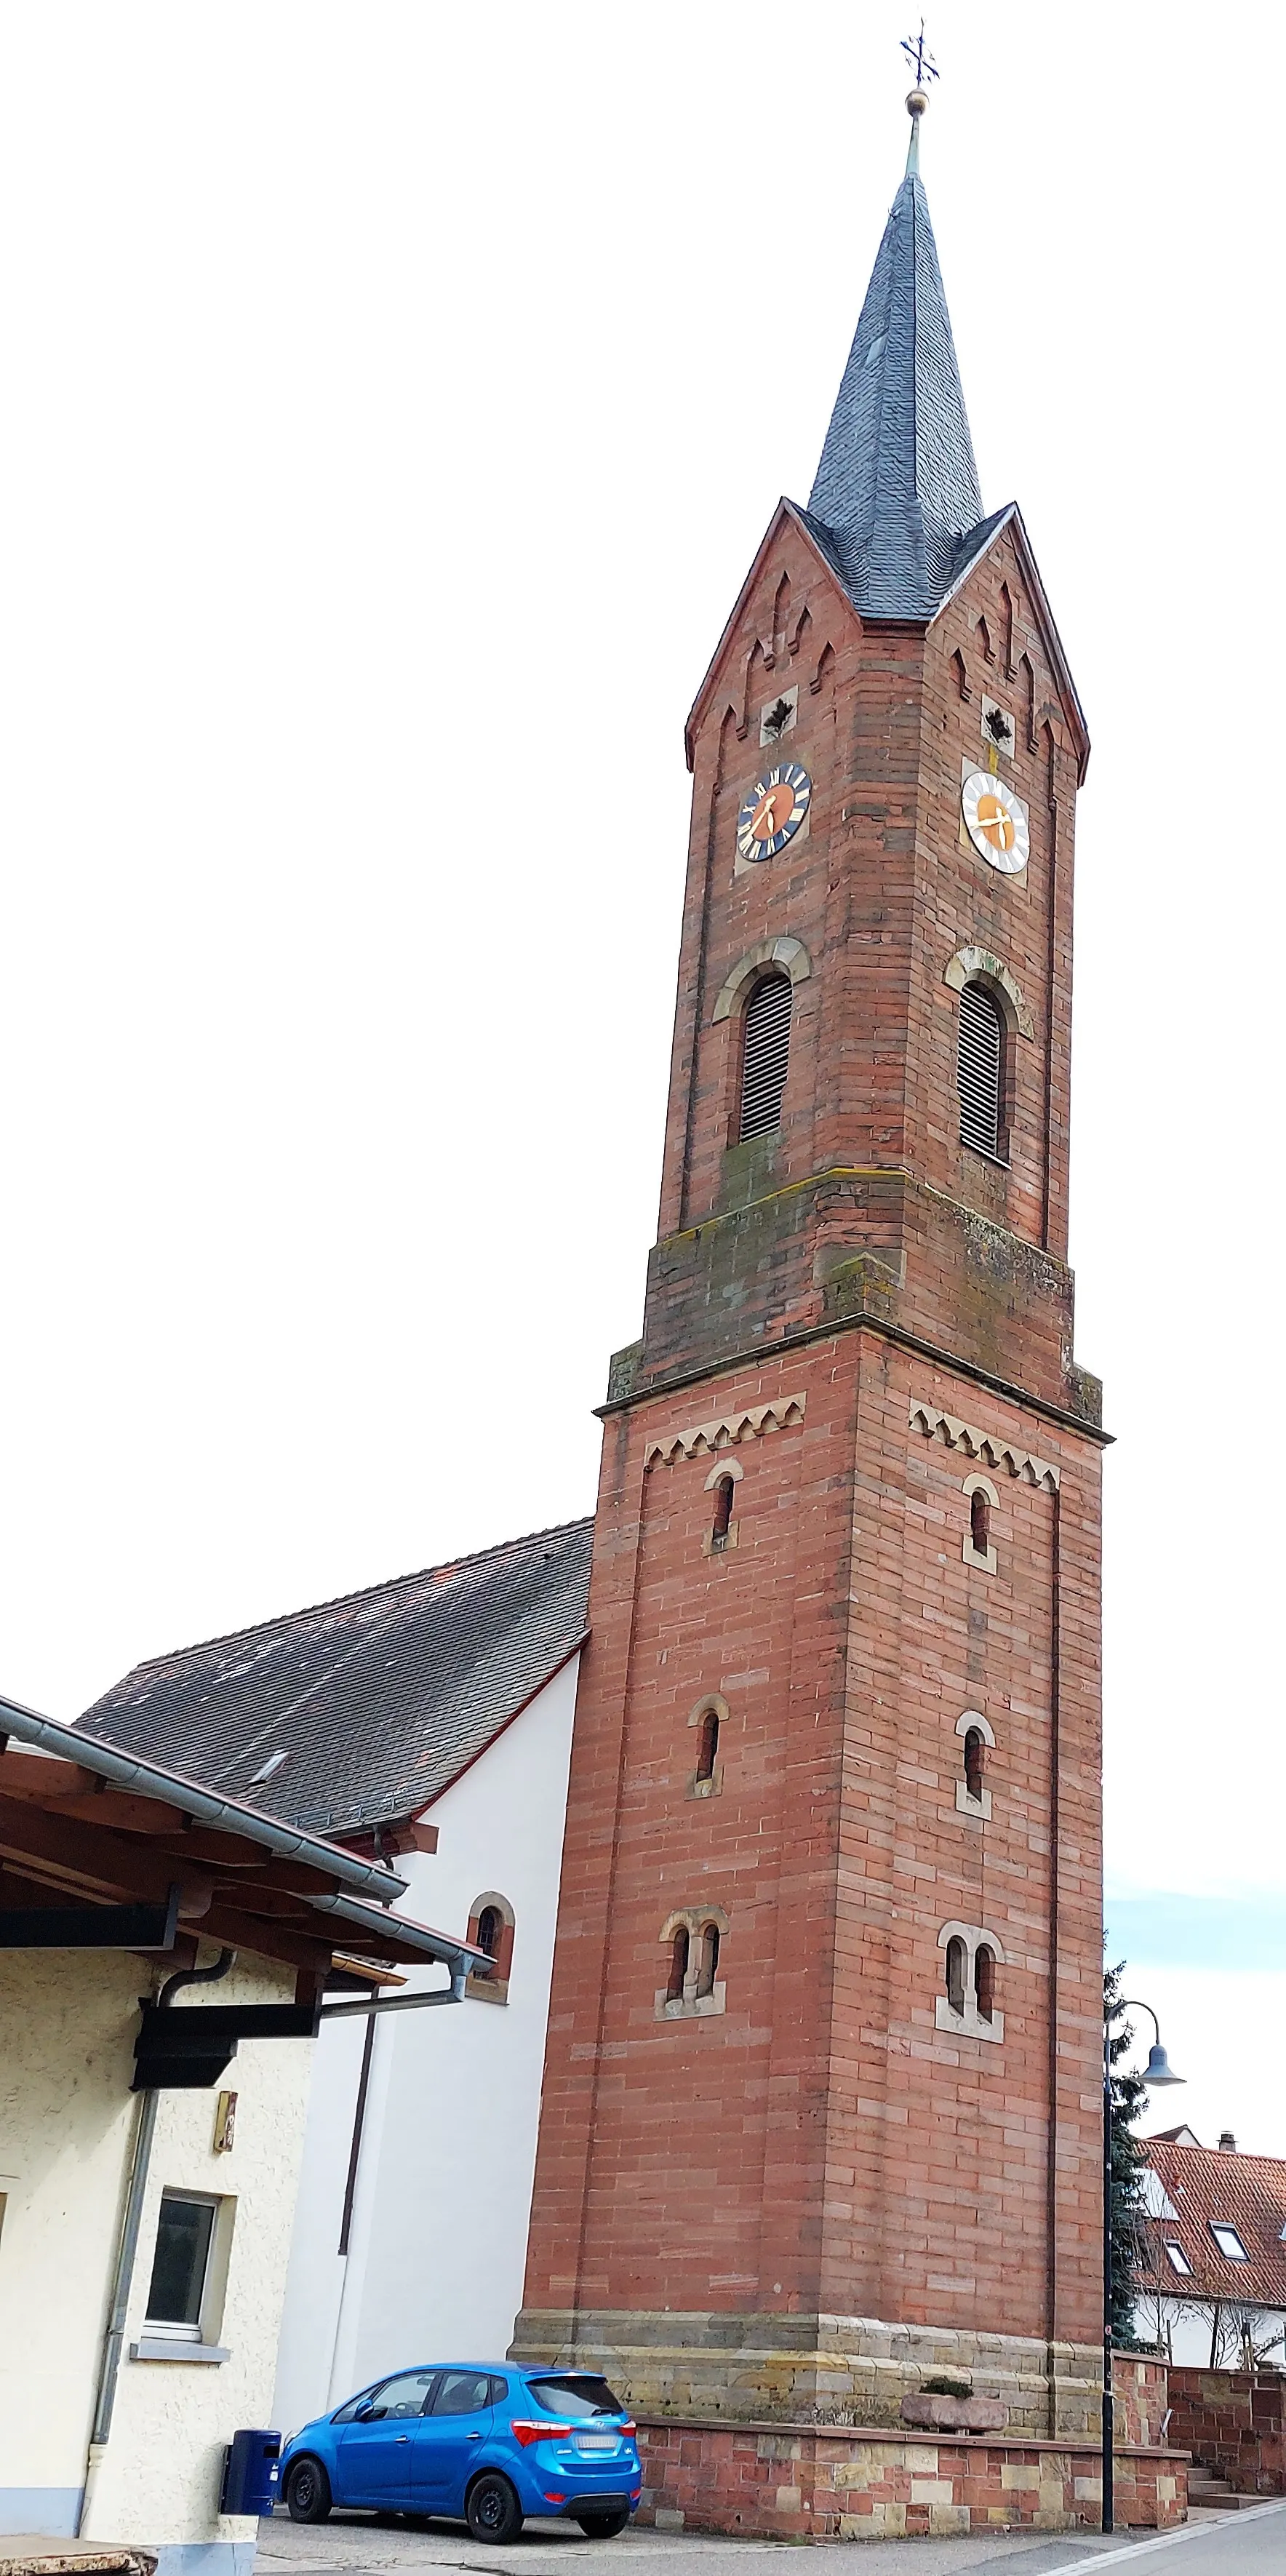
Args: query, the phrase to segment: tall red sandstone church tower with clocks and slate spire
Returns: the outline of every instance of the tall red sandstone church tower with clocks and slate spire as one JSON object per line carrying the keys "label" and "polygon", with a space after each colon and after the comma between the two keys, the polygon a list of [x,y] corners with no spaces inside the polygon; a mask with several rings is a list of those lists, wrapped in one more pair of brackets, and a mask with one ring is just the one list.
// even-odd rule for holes
{"label": "tall red sandstone church tower with clocks and slate spire", "polygon": [[1072,1358],[1088,734],[984,515],[912,149],[809,505],[688,721],[523,2357],[639,2414],[1098,2419],[1100,1388]]}

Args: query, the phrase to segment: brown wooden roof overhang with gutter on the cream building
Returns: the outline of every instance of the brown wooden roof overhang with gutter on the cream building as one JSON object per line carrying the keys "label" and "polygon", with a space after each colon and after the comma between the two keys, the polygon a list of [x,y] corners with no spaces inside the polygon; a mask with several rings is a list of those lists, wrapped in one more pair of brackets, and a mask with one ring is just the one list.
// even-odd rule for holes
{"label": "brown wooden roof overhang with gutter on the cream building", "polygon": [[[464,1989],[490,1960],[394,1914],[407,1880],[322,1834],[0,1700],[0,1947],[142,1950],[168,1965],[201,1940],[296,1971],[296,1999],[363,1963],[387,1984],[438,1960]],[[446,1999],[446,1994],[443,1994]]]}

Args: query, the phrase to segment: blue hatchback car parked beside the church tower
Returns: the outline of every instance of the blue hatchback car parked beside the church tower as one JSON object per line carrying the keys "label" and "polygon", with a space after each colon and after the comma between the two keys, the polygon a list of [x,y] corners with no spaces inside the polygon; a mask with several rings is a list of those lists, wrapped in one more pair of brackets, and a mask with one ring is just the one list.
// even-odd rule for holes
{"label": "blue hatchback car parked beside the church tower", "polygon": [[278,2491],[294,2522],[325,2522],[340,2504],[446,2514],[474,2540],[515,2540],[526,2514],[564,2514],[590,2540],[613,2540],[639,2488],[634,2424],[606,2380],[451,2362],[394,2370],[291,2432]]}

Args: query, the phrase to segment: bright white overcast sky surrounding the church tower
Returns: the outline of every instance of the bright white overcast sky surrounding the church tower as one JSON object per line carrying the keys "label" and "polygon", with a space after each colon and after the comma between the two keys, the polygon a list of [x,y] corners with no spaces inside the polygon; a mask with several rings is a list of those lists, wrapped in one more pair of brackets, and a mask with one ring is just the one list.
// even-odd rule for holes
{"label": "bright white overcast sky surrounding the church tower", "polygon": [[[812,482],[907,23],[0,5],[13,1695],[72,1716],[593,1507],[655,1234],[683,716]],[[984,502],[1023,505],[1095,739],[1111,1886],[1252,1904],[1219,1917],[1245,1950],[1286,1811],[1281,21],[951,0],[930,41]],[[1240,2112],[1173,1984],[1206,2125],[1286,2151],[1286,2089]]]}

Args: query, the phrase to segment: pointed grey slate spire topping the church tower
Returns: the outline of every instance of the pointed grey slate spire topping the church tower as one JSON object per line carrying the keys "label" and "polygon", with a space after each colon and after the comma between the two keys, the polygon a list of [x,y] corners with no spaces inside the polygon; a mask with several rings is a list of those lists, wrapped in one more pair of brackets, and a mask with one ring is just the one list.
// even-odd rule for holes
{"label": "pointed grey slate spire topping the church tower", "polygon": [[853,605],[930,618],[961,538],[982,520],[951,317],[920,180],[923,93],[907,108],[907,175],[892,201],[858,335],[809,495]]}

